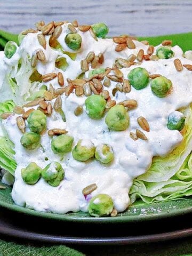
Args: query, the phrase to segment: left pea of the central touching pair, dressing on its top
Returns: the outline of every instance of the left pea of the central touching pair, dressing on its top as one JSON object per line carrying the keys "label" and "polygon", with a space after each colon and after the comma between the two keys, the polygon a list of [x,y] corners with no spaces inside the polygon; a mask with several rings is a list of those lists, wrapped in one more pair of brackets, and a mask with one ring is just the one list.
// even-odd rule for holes
{"label": "left pea of the central touching pair, dressing on its top", "polygon": [[94,156],[95,146],[91,140],[83,139],[79,140],[77,145],[72,151],[73,158],[77,161],[87,161]]}

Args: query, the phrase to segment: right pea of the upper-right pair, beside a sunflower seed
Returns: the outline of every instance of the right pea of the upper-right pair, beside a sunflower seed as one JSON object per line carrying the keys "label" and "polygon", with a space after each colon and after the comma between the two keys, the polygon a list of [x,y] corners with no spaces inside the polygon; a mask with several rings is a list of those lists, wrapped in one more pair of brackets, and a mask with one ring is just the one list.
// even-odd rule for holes
{"label": "right pea of the upper-right pair, beside a sunflower seed", "polygon": [[156,77],[151,81],[151,91],[159,98],[166,97],[169,93],[172,82],[164,76]]}

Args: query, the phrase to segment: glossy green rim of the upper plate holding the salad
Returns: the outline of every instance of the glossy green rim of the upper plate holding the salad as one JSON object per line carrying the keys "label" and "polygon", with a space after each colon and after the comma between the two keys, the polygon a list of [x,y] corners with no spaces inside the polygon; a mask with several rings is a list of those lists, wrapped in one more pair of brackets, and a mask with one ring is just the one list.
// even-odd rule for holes
{"label": "glossy green rim of the upper plate holding the salad", "polygon": [[[176,201],[176,200],[175,200]],[[174,201],[172,201],[174,202]],[[191,198],[192,202],[192,198]],[[131,222],[141,222],[141,221],[150,221],[150,220],[159,220],[164,218],[171,218],[175,216],[185,215],[192,212],[192,204],[191,206],[186,207],[185,209],[172,209],[171,212],[158,212],[158,213],[149,213],[147,215],[123,215],[123,216],[116,216],[114,218],[111,217],[76,217],[73,215],[66,215],[66,214],[59,214],[59,213],[49,213],[49,212],[41,212],[36,210],[27,209],[25,207],[6,203],[0,200],[0,206],[9,209],[14,212],[19,212],[27,215],[32,215],[35,217],[45,218],[45,219],[52,219],[58,221],[65,221],[65,222],[77,222],[77,223],[131,223]],[[121,214],[121,213],[120,213]]]}

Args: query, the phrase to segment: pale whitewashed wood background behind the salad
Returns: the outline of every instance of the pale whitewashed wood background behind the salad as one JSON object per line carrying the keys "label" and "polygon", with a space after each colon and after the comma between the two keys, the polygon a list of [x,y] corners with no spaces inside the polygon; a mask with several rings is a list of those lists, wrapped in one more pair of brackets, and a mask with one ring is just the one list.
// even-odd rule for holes
{"label": "pale whitewashed wood background behind the salad", "polygon": [[192,0],[0,0],[0,29],[19,33],[38,20],[105,22],[109,35],[192,30]]}

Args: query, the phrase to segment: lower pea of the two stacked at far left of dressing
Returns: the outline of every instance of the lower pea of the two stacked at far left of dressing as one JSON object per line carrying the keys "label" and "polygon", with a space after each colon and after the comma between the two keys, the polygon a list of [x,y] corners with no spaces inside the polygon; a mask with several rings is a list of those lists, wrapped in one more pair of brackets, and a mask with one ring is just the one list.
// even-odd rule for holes
{"label": "lower pea of the two stacked at far left of dressing", "polygon": [[21,145],[27,149],[35,149],[40,145],[41,136],[36,132],[26,132],[21,137]]}

